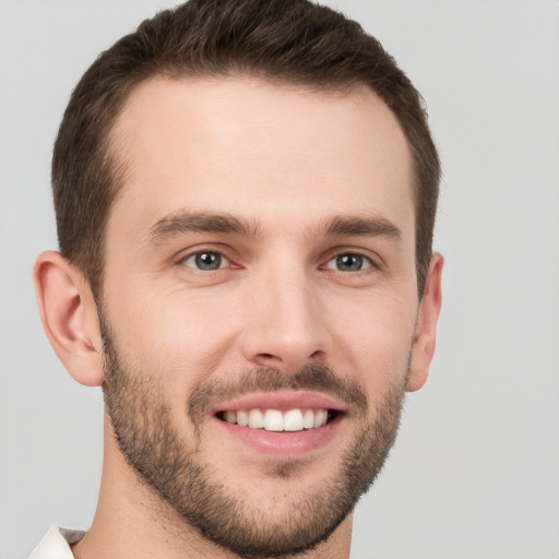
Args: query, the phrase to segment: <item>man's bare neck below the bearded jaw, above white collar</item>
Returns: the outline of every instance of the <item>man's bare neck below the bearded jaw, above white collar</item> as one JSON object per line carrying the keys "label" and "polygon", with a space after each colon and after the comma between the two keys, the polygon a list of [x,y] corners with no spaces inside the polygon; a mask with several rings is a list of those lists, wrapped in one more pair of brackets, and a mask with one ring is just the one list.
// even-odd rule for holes
{"label": "man's bare neck below the bearded jaw, above white collar", "polygon": [[[305,559],[347,559],[352,516]],[[105,420],[105,456],[99,500],[92,526],[72,547],[76,559],[237,559],[239,556],[205,539],[167,502],[139,479],[126,462]]]}

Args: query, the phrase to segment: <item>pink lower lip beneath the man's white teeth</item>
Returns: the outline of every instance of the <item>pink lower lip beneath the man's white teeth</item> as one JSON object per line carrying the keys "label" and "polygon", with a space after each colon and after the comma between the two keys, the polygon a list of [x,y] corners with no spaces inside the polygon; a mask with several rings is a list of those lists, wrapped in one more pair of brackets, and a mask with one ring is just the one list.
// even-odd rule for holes
{"label": "pink lower lip beneath the man's white teeth", "polygon": [[340,414],[333,420],[314,429],[302,431],[266,431],[251,429],[214,417],[222,429],[254,451],[270,456],[301,456],[325,445],[337,431],[343,420]]}

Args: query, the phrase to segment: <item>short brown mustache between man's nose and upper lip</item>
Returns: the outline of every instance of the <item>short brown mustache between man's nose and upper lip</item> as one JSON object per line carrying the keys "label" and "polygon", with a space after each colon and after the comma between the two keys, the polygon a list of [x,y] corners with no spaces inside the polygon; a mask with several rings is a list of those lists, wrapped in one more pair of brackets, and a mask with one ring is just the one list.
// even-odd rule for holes
{"label": "short brown mustache between man's nose and upper lip", "polygon": [[235,400],[254,392],[281,390],[309,390],[331,395],[357,412],[367,411],[367,396],[355,379],[336,374],[323,364],[301,367],[294,373],[273,368],[255,368],[235,380],[211,380],[198,386],[188,400],[188,415],[194,425],[203,421],[210,407],[227,400]]}

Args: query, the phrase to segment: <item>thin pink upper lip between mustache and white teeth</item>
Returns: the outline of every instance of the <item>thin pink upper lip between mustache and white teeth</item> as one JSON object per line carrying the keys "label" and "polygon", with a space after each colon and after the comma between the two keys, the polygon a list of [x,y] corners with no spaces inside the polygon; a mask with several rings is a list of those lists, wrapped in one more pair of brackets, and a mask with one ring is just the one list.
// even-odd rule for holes
{"label": "thin pink upper lip between mustache and white teeth", "polygon": [[214,406],[210,413],[215,415],[219,412],[237,412],[239,409],[255,408],[278,409],[281,412],[296,408],[333,409],[336,412],[345,412],[347,406],[338,400],[320,392],[286,390],[281,392],[247,394],[245,396],[224,402],[223,404],[218,404]]}

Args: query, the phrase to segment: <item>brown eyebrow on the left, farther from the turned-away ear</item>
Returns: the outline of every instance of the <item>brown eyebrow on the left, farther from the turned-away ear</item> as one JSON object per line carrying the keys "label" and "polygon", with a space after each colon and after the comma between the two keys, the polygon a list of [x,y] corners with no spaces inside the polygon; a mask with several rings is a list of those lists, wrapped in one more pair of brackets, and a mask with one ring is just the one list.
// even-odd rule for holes
{"label": "brown eyebrow on the left, farther from the turned-away ear", "polygon": [[148,239],[157,245],[185,233],[224,233],[255,237],[259,225],[229,214],[178,212],[159,219],[150,228]]}

